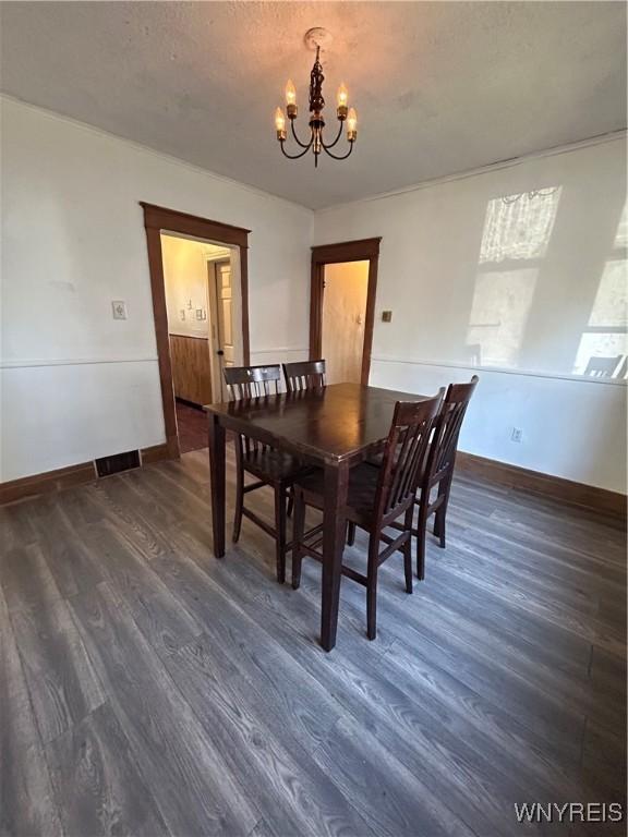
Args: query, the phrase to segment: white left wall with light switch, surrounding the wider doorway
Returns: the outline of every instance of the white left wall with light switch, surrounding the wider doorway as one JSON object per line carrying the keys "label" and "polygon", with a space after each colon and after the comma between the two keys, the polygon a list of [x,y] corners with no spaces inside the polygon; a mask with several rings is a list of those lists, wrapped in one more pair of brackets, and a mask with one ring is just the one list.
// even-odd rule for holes
{"label": "white left wall with light switch, surrounding the wider doorway", "polygon": [[0,480],[165,440],[140,201],[251,229],[252,360],[306,354],[311,211],[10,99],[1,111]]}

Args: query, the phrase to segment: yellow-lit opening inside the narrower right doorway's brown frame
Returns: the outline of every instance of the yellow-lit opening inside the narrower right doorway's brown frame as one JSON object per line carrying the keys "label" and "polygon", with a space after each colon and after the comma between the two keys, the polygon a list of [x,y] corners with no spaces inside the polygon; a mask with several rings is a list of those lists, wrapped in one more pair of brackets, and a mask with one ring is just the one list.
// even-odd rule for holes
{"label": "yellow-lit opening inside the narrower right doorway's brown frame", "polygon": [[321,351],[328,384],[362,379],[367,292],[367,260],[325,265]]}

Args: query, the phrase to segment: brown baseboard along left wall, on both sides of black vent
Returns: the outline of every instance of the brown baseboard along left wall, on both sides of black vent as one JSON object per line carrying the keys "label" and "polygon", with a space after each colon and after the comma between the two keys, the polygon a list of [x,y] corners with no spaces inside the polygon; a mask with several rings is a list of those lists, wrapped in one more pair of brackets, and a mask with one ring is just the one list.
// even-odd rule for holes
{"label": "brown baseboard along left wall, on both sides of black vent", "polygon": [[[142,454],[142,464],[148,465],[162,459],[178,459],[179,446],[177,445],[174,448],[171,441],[164,442],[162,445],[142,448],[140,453]],[[46,471],[43,474],[11,480],[8,483],[0,483],[0,506],[15,502],[16,500],[24,500],[28,497],[36,497],[39,494],[61,492],[64,488],[72,488],[73,486],[90,483],[98,478],[94,462],[81,462],[77,465],[60,468],[57,471]]]}

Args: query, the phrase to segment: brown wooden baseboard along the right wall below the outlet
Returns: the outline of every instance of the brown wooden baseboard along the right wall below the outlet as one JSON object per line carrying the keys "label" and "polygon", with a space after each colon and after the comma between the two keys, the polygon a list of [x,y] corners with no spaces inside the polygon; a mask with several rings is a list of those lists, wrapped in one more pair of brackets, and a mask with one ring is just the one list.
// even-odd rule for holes
{"label": "brown wooden baseboard along the right wall below the outlet", "polygon": [[483,477],[487,482],[506,485],[511,488],[524,488],[536,494],[552,497],[576,506],[606,512],[616,518],[626,519],[627,498],[617,492],[596,488],[593,485],[573,483],[560,476],[543,474],[540,471],[529,471],[526,468],[484,459],[474,453],[458,451],[456,468],[464,473]]}

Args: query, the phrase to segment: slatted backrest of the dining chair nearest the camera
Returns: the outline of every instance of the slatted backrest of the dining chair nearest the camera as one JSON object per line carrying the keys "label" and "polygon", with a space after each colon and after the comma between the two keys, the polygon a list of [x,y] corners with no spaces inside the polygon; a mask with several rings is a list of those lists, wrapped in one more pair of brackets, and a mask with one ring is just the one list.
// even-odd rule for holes
{"label": "slatted backrest of the dining chair nearest the camera", "polygon": [[423,401],[398,401],[384,448],[375,510],[379,520],[394,520],[414,502],[427,456],[432,428],[445,388]]}

